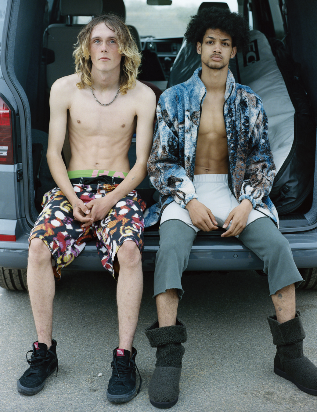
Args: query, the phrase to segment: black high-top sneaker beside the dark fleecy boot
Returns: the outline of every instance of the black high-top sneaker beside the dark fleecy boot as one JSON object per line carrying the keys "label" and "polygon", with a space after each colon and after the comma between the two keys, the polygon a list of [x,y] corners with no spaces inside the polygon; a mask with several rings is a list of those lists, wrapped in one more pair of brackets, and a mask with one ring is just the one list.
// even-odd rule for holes
{"label": "black high-top sneaker beside the dark fleecy boot", "polygon": [[[113,351],[113,361],[111,362],[112,376],[109,380],[107,398],[110,402],[124,403],[138,395],[141,389],[142,379],[135,356],[137,351],[132,348],[133,355],[130,359],[130,351],[116,348]],[[140,376],[140,385],[137,392],[135,384],[135,369]]]}

